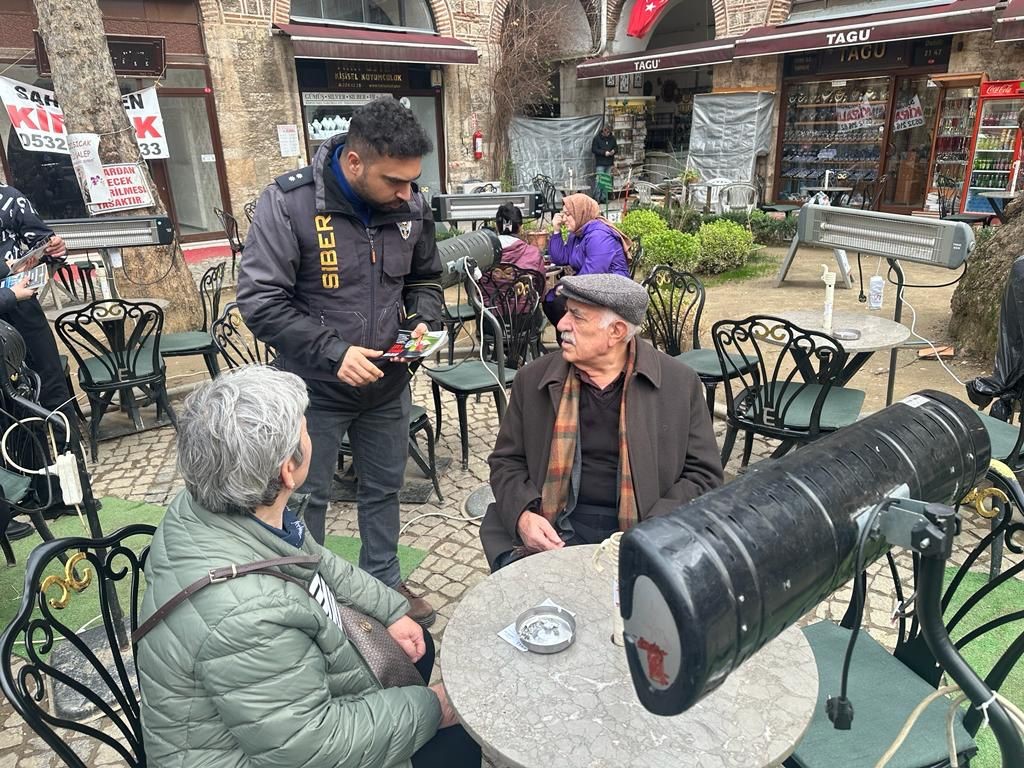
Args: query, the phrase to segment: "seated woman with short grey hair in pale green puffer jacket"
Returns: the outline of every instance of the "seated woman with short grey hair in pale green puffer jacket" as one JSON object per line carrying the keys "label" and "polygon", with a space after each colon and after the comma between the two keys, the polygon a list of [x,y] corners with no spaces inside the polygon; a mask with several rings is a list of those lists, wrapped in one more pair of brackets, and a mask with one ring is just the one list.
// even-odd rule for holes
{"label": "seated woman with short grey hair in pale green puffer jacket", "polygon": [[[342,629],[338,601],[387,627],[429,680],[433,642],[406,598],[316,544],[290,503],[309,470],[307,404],[298,377],[254,366],[179,414],[185,489],[154,536],[139,616],[146,763],[478,768],[443,687],[381,687]],[[289,557],[179,597],[218,568]]]}

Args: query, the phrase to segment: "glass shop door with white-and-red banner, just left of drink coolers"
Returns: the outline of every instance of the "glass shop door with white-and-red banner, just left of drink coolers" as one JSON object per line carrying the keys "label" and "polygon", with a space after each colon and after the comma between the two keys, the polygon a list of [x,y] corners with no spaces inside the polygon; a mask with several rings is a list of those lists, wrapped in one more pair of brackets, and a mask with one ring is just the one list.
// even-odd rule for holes
{"label": "glass shop door with white-and-red banner, just left of drink coolers", "polygon": [[883,207],[924,208],[938,101],[939,89],[929,87],[927,76],[896,79],[883,171]]}

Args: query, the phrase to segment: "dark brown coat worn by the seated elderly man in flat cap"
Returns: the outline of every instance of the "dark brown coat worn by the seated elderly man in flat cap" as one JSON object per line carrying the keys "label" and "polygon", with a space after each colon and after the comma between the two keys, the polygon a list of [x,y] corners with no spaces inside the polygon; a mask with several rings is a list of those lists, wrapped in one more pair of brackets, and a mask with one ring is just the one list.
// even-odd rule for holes
{"label": "dark brown coat worn by the seated elderly man in flat cap", "polygon": [[[627,398],[630,468],[640,519],[668,514],[722,484],[703,385],[692,369],[638,340]],[[480,525],[487,562],[520,544],[516,523],[541,498],[551,434],[569,366],[558,352],[516,374],[490,465],[490,505]]]}

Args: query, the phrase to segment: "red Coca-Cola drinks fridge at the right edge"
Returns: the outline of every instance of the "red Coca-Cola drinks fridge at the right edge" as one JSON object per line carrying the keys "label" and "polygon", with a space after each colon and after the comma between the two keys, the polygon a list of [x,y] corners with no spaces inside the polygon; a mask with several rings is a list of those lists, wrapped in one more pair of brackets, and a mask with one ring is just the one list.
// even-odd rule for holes
{"label": "red Coca-Cola drinks fridge at the right edge", "polygon": [[[971,176],[963,210],[991,213],[987,191],[1016,190],[1020,186],[1021,135],[1017,115],[1024,109],[1024,81],[981,84],[980,106],[971,146]],[[1015,176],[1017,178],[1015,178]]]}

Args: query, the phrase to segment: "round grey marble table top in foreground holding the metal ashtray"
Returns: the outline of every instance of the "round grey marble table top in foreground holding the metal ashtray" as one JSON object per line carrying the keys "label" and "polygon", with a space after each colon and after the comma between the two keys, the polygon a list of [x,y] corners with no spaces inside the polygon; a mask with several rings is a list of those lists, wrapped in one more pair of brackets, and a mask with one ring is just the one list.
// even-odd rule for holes
{"label": "round grey marble table top in foreground holding the metal ashtray", "polygon": [[[444,630],[441,670],[452,705],[485,750],[517,768],[761,768],[788,757],[817,701],[817,668],[795,628],[748,659],[694,708],[647,712],[625,650],[610,641],[613,570],[596,547],[512,563],[468,591]],[[497,633],[546,598],[572,611],[577,640],[552,655]]]}

